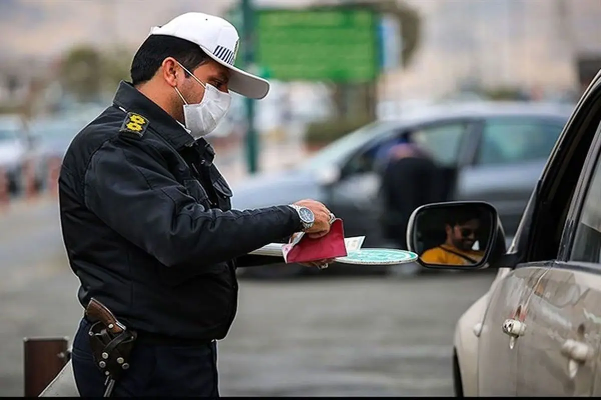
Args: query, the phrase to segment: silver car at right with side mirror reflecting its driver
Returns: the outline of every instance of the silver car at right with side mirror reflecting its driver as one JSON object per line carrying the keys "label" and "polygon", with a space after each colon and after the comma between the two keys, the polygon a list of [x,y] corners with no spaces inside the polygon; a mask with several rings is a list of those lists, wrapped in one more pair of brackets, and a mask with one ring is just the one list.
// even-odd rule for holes
{"label": "silver car at right with side mirror reflecting its driver", "polygon": [[413,212],[407,238],[421,256],[432,249],[422,248],[431,228],[447,226],[442,215],[462,207],[479,216],[469,222],[479,225],[478,235],[465,236],[478,249],[464,250],[478,253],[477,263],[420,260],[423,266],[498,269],[456,326],[457,396],[601,395],[600,156],[601,71],[536,180],[510,248],[490,203],[427,204]]}

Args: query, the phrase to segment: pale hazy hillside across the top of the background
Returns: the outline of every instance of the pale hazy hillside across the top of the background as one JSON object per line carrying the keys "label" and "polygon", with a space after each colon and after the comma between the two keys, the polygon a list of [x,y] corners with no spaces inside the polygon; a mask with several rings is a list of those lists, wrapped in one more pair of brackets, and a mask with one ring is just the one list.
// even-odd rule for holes
{"label": "pale hazy hillside across the top of the background", "polygon": [[[254,2],[286,7],[320,1]],[[423,16],[421,44],[412,65],[386,80],[389,98],[445,93],[466,81],[563,89],[575,85],[576,55],[601,53],[601,0],[406,1]],[[79,43],[120,43],[133,52],[153,25],[186,11],[220,15],[236,2],[0,0],[0,76],[15,68],[35,74]]]}

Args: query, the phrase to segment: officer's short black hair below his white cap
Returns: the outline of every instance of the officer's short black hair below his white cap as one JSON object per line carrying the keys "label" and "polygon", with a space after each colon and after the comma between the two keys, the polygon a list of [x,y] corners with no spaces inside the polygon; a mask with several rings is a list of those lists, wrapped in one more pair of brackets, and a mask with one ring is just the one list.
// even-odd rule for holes
{"label": "officer's short black hair below his white cap", "polygon": [[130,70],[133,85],[148,82],[167,57],[175,58],[191,72],[210,60],[207,53],[191,41],[169,35],[150,35],[133,56]]}

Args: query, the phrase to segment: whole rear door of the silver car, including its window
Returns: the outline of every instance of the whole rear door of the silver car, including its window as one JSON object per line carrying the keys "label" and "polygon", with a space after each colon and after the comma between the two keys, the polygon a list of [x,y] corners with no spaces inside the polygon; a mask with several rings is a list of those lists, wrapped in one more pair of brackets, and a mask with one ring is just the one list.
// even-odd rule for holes
{"label": "whole rear door of the silver car, including its window", "polygon": [[601,125],[570,204],[558,260],[535,287],[517,395],[590,396],[601,344]]}

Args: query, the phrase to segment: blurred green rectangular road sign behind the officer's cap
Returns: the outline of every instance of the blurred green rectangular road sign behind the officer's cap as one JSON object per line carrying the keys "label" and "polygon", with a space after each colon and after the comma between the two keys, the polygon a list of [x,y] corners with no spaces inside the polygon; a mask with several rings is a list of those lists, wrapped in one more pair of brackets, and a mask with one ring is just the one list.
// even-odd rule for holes
{"label": "blurred green rectangular road sign behind the officer's cap", "polygon": [[255,62],[272,79],[370,82],[379,72],[372,10],[255,10]]}

